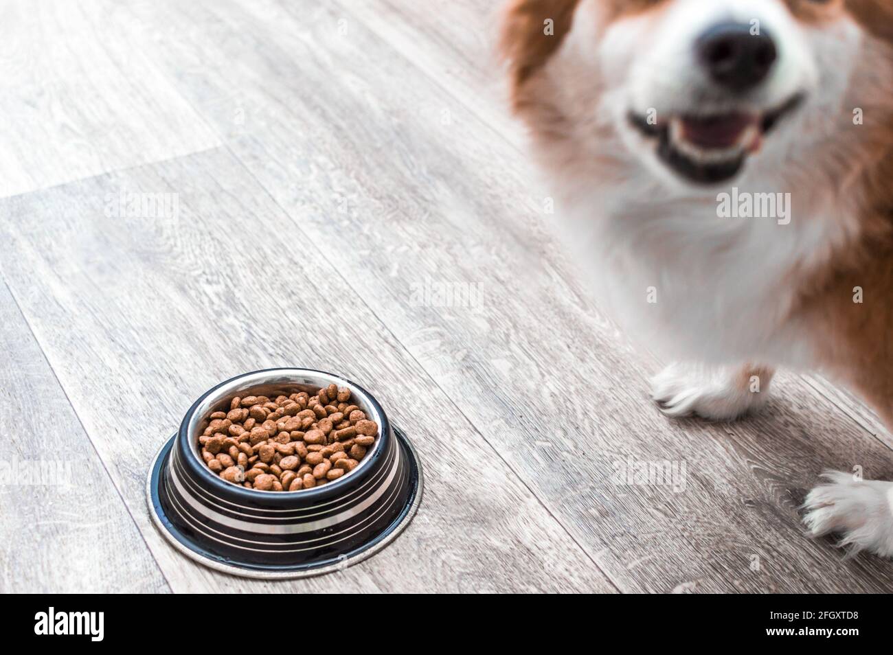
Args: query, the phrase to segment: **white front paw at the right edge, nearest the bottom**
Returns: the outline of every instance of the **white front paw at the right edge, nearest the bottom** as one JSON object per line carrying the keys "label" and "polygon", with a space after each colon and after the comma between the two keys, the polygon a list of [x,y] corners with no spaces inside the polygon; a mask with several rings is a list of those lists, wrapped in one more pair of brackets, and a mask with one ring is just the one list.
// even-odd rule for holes
{"label": "white front paw at the right edge, nearest the bottom", "polygon": [[809,492],[803,518],[813,536],[839,533],[839,545],[852,553],[870,551],[893,557],[893,482],[855,480],[826,471],[829,482]]}

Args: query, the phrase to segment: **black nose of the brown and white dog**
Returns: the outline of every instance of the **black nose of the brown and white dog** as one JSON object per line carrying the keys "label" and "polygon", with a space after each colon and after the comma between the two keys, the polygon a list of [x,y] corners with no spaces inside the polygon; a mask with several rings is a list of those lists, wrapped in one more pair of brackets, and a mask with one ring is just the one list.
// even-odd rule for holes
{"label": "black nose of the brown and white dog", "polygon": [[778,57],[763,29],[751,34],[747,23],[714,25],[697,39],[697,54],[711,79],[732,91],[747,91],[764,79]]}

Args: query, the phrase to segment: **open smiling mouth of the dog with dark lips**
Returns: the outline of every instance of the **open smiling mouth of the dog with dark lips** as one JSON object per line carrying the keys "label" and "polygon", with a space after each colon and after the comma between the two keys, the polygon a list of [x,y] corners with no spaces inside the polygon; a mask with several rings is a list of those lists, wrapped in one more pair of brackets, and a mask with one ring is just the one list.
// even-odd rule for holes
{"label": "open smiling mouth of the dog with dark lips", "polygon": [[630,112],[629,120],[657,141],[657,156],[680,177],[717,184],[738,175],[747,157],[760,150],[764,138],[802,101],[798,94],[769,112],[679,114],[663,121]]}

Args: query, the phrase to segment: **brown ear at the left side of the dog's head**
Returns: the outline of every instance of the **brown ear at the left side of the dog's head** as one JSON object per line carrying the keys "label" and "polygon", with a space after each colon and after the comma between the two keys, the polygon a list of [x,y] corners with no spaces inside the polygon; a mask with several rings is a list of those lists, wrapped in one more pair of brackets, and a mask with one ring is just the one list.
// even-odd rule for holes
{"label": "brown ear at the left side of the dog's head", "polygon": [[547,62],[571,31],[580,0],[509,0],[505,7],[500,52],[508,62],[512,97]]}

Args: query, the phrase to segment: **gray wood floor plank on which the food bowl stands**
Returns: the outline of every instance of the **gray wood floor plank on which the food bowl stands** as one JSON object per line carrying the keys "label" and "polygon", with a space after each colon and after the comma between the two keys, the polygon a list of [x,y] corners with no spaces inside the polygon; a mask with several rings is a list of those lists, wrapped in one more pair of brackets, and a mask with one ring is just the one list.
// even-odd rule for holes
{"label": "gray wood floor plank on which the food bowl stands", "polygon": [[[177,194],[178,211],[108,211],[120,190]],[[0,266],[174,591],[613,590],[230,153],[0,207]],[[197,567],[149,522],[149,462],[205,389],[288,365],[338,371],[380,399],[421,454],[418,515],[384,551],[330,576],[274,584]]]}

